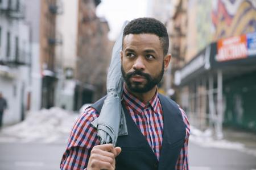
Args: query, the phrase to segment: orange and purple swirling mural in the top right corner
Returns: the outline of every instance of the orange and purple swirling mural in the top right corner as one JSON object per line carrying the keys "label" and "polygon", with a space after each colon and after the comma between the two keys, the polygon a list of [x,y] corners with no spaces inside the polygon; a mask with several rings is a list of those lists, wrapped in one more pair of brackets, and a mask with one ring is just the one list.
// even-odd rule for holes
{"label": "orange and purple swirling mural in the top right corner", "polygon": [[212,1],[212,24],[214,41],[256,32],[256,1]]}

